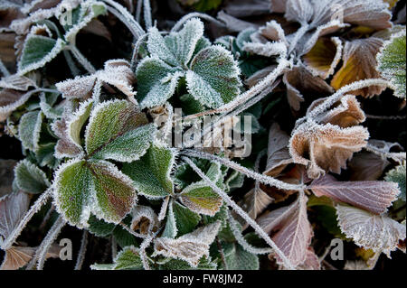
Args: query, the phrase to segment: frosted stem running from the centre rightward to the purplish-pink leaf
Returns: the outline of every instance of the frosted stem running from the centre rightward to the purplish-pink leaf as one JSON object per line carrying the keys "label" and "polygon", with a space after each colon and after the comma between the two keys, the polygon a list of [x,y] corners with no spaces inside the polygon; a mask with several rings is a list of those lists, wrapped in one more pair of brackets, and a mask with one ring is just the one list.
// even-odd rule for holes
{"label": "frosted stem running from the centre rightward to the purplish-pink leaf", "polygon": [[238,163],[234,163],[229,159],[215,156],[210,153],[203,153],[203,152],[195,151],[192,149],[185,149],[185,150],[182,150],[180,153],[184,154],[186,156],[190,156],[190,157],[197,157],[197,158],[214,161],[216,163],[221,163],[222,165],[225,165],[237,172],[241,172],[242,174],[245,174],[246,176],[248,176],[254,180],[260,181],[263,184],[268,184],[270,186],[277,187],[281,190],[304,190],[304,189],[306,189],[305,185],[294,185],[294,184],[286,183],[284,181],[279,181],[270,176],[263,175],[258,172],[254,172],[250,169],[247,169],[246,167],[243,167]]}

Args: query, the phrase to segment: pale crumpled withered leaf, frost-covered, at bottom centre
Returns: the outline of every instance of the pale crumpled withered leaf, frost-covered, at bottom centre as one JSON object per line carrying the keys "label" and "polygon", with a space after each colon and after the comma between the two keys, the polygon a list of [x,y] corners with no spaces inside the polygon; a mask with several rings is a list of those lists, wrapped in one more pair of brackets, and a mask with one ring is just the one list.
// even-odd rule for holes
{"label": "pale crumpled withered leaf, frost-covered, at bottom centre", "polygon": [[196,267],[204,255],[209,256],[209,246],[213,243],[220,227],[221,223],[216,221],[176,239],[156,238],[155,254],[185,260],[189,265]]}

